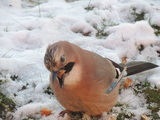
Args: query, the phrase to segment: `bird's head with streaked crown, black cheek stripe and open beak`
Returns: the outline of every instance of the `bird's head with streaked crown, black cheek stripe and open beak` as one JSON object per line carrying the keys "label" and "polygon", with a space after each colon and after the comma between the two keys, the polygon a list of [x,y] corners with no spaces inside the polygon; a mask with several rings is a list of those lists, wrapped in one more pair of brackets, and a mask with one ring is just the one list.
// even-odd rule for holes
{"label": "bird's head with streaked crown, black cheek stripe and open beak", "polygon": [[58,79],[60,87],[63,87],[64,76],[74,66],[75,58],[70,54],[70,52],[73,52],[70,44],[60,41],[49,45],[44,56],[45,66],[51,72],[53,82]]}

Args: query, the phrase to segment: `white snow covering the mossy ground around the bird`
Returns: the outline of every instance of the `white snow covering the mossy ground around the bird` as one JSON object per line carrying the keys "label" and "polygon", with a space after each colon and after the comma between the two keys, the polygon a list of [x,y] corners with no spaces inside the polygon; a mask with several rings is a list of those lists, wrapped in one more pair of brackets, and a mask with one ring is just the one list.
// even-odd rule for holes
{"label": "white snow covering the mossy ground around the bird", "polygon": [[[153,29],[160,29],[159,6],[159,0],[0,0],[0,79],[5,81],[0,90],[16,103],[14,119],[58,119],[63,108],[44,92],[49,72],[43,63],[47,46],[56,41],[67,40],[118,63],[127,57],[160,65],[160,33]],[[160,89],[160,68],[132,79]],[[129,104],[135,119],[149,112],[143,96],[131,88],[119,101]],[[41,108],[53,114],[41,117]]]}

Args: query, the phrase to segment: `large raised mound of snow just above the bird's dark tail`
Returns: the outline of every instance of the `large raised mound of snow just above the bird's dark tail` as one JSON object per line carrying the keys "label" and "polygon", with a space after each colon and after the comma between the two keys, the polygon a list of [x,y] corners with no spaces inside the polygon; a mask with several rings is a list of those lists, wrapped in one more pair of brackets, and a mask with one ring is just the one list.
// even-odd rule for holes
{"label": "large raised mound of snow just above the bird's dark tail", "polygon": [[110,35],[103,45],[115,49],[119,57],[132,58],[138,52],[137,48],[140,45],[148,46],[157,41],[153,29],[146,21],[136,22],[135,24],[124,23],[111,27],[106,32]]}

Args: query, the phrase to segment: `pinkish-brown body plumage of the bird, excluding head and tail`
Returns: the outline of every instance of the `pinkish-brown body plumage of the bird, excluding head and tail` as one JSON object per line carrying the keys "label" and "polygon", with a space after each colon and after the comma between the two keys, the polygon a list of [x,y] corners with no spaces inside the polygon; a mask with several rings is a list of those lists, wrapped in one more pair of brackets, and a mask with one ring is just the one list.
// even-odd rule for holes
{"label": "pinkish-brown body plumage of the bird, excluding head and tail", "polygon": [[[82,111],[88,115],[108,112],[117,102],[117,87],[109,94],[106,90],[115,78],[113,65],[92,52],[72,46],[76,60],[72,71],[65,77],[64,86],[58,80],[50,85],[58,101],[70,111]],[[72,51],[70,51],[72,54]]]}

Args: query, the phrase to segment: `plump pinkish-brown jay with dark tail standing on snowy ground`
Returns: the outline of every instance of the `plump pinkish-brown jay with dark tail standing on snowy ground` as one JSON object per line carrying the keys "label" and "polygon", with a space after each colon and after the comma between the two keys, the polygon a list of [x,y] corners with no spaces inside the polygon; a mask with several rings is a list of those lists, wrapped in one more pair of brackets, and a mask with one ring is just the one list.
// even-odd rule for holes
{"label": "plump pinkish-brown jay with dark tail standing on snowy ground", "polygon": [[56,99],[71,112],[99,116],[117,103],[123,77],[158,67],[135,61],[118,64],[68,41],[48,46],[44,64]]}

